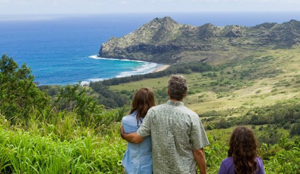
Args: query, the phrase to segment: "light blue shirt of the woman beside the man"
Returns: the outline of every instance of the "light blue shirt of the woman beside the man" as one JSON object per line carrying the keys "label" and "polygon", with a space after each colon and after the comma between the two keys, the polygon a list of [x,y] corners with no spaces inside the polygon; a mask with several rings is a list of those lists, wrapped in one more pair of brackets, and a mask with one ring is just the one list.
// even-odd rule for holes
{"label": "light blue shirt of the woman beside the man", "polygon": [[[136,111],[122,118],[122,126],[125,133],[136,132],[143,118],[136,120]],[[126,152],[122,159],[122,165],[126,173],[152,173],[152,148],[151,136],[146,136],[142,142],[138,144],[127,144]]]}

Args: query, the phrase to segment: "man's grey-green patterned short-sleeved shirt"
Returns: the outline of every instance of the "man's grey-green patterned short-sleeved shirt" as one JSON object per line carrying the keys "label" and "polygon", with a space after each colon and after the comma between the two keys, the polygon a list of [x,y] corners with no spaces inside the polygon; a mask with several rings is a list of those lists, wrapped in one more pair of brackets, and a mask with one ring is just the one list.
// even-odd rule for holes
{"label": "man's grey-green patterned short-sleeved shirt", "polygon": [[153,173],[196,173],[192,150],[209,144],[198,115],[179,101],[151,107],[136,133],[151,135]]}

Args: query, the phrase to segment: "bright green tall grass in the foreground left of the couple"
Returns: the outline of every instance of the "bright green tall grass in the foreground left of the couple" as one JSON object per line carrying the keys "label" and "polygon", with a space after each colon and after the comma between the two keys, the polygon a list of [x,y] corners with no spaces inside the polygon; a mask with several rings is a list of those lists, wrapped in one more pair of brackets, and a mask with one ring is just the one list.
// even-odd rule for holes
{"label": "bright green tall grass in the foreground left of the couple", "polygon": [[86,135],[68,141],[60,141],[53,134],[40,136],[32,133],[0,128],[1,173],[121,173],[122,171],[117,162],[123,155],[125,142],[115,138],[119,134],[117,131],[103,137]]}

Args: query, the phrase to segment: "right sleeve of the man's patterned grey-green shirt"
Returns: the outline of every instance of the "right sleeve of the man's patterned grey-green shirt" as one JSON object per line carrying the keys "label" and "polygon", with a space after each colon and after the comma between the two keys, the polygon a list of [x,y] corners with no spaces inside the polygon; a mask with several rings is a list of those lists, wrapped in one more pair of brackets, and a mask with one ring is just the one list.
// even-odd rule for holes
{"label": "right sleeve of the man's patterned grey-green shirt", "polygon": [[198,116],[191,116],[190,143],[192,149],[200,149],[209,144],[204,127]]}

